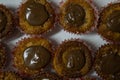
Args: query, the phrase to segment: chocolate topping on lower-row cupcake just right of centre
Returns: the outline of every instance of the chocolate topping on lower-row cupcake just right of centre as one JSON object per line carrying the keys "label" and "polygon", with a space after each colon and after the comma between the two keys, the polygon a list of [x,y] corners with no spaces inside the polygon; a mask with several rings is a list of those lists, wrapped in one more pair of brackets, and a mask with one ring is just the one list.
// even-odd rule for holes
{"label": "chocolate topping on lower-row cupcake just right of centre", "polygon": [[63,53],[63,61],[67,69],[80,70],[85,65],[84,51],[70,50]]}

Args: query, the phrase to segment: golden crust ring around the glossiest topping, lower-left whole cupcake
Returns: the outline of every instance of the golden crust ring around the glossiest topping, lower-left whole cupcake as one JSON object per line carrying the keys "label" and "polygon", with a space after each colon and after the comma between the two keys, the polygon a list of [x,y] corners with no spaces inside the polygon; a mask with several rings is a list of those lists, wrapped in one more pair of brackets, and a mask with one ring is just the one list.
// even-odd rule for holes
{"label": "golden crust ring around the glossiest topping, lower-left whole cupcake", "polygon": [[[30,46],[43,46],[48,51],[50,51],[50,53],[53,53],[52,52],[52,44],[44,38],[32,37],[32,38],[23,39],[22,41],[19,42],[18,46],[15,48],[15,50],[13,52],[14,66],[18,69],[18,71],[21,74],[33,75],[35,73],[42,71],[42,69],[44,69],[44,67],[46,67],[49,64],[49,63],[47,63],[44,67],[42,67],[40,69],[28,68],[24,63],[23,54],[24,54],[25,49]],[[50,57],[49,62],[51,62],[52,54],[50,54],[50,56],[51,57]]]}

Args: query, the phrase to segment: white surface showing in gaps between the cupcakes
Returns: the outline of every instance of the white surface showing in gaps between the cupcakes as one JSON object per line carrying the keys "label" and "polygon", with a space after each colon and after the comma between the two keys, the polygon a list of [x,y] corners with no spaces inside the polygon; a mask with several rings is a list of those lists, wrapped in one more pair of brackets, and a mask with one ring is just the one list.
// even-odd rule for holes
{"label": "white surface showing in gaps between the cupcakes", "polygon": [[[23,0],[24,1],[24,0]],[[54,3],[59,4],[60,0],[49,0]],[[93,0],[98,10],[100,10],[102,7],[106,6],[110,2],[114,2],[117,0]],[[15,11],[19,8],[22,0],[0,0],[1,4],[6,5],[8,8],[10,8],[12,11]],[[104,41],[97,33],[96,31],[91,32],[89,34],[82,34],[82,35],[75,35],[71,34],[69,32],[65,32],[63,28],[60,26],[55,26],[55,28],[48,32],[47,34],[43,35],[45,38],[51,40],[55,45],[59,45],[62,41],[71,39],[71,38],[79,38],[83,41],[85,41],[93,51],[96,51],[101,45],[104,45],[106,41]],[[21,38],[26,37],[25,34],[21,34],[19,31],[17,33],[14,33],[14,35],[10,36],[9,38],[3,40],[4,43],[6,43],[9,48],[12,50],[12,48],[15,47],[16,42],[18,40],[21,40]]]}

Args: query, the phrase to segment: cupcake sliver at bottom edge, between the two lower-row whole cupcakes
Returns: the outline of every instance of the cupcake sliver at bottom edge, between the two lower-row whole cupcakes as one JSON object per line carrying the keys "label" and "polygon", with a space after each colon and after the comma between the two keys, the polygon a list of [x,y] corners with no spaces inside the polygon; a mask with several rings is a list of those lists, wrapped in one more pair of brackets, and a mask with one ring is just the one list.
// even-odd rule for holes
{"label": "cupcake sliver at bottom edge, between the two lower-row whole cupcakes", "polygon": [[50,72],[42,72],[34,76],[32,80],[62,80],[56,74]]}

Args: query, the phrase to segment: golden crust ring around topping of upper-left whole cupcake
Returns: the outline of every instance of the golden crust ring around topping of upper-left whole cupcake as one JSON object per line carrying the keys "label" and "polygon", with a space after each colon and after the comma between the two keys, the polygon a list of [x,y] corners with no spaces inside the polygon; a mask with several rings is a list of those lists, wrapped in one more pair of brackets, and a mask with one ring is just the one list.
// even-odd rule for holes
{"label": "golden crust ring around topping of upper-left whole cupcake", "polygon": [[54,26],[55,14],[53,8],[46,0],[34,0],[36,3],[40,3],[45,6],[46,10],[49,13],[49,18],[42,26],[41,25],[32,26],[26,21],[25,15],[23,14],[25,11],[25,6],[27,4],[27,1],[23,3],[19,9],[18,16],[19,16],[20,29],[27,34],[42,34],[44,32],[47,32],[49,29],[51,29]]}

